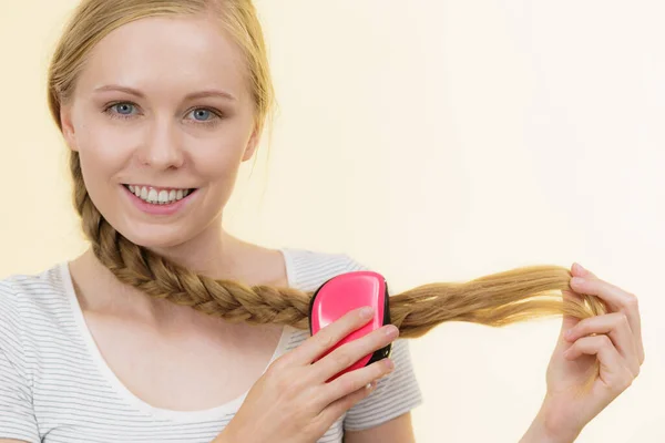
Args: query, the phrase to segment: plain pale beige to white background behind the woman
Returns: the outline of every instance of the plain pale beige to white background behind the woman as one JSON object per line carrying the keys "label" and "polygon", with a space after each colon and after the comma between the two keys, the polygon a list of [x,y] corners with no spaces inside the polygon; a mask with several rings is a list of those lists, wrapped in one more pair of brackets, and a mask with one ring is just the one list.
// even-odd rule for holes
{"label": "plain pale beige to white background behind the woman", "polygon": [[[75,3],[0,0],[0,277],[85,246],[44,90]],[[280,112],[226,226],[348,253],[393,292],[577,260],[640,297],[646,348],[579,442],[665,441],[662,2],[257,4]],[[443,324],[411,341],[418,442],[516,442],[559,326]]]}

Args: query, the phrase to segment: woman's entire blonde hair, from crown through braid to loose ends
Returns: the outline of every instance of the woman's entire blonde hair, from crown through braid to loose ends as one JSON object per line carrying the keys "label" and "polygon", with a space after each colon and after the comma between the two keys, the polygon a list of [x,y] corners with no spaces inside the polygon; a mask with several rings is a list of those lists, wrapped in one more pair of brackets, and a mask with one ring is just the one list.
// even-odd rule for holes
{"label": "woman's entire blonde hair, from crown through braid to loose ends", "polygon": [[[274,91],[263,31],[250,0],[85,0],[65,29],[49,70],[49,104],[62,128],[60,106],[71,99],[90,50],[112,30],[134,20],[166,14],[215,13],[243,50],[260,130]],[[231,322],[282,323],[308,329],[313,292],[288,287],[247,286],[197,275],[117,233],[85,189],[76,152],[71,152],[74,204],[83,231],[99,260],[122,282],[177,305],[190,306]],[[417,338],[446,321],[492,327],[545,316],[579,319],[606,311],[593,296],[564,298],[571,272],[560,266],[531,266],[467,282],[419,286],[389,299],[391,322],[401,338]]]}

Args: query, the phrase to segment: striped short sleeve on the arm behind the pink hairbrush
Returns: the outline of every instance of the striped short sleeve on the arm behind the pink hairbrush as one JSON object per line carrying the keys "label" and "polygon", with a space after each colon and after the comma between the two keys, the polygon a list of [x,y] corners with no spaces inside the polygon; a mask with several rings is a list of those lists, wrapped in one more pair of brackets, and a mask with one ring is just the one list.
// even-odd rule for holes
{"label": "striped short sleeve on the arm behind the pink hairbrush", "polygon": [[[369,270],[350,259],[349,271]],[[398,418],[423,403],[422,392],[413,371],[408,339],[392,342],[391,373],[378,381],[376,390],[349,409],[344,419],[346,431],[361,431]]]}

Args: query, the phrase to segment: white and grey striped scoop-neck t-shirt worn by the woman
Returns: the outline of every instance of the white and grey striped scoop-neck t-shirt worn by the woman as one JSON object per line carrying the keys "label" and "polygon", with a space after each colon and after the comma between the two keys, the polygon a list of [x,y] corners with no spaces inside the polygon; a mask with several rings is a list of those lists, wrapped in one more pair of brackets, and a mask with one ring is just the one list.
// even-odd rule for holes
{"label": "white and grey striped scoop-neck t-shirt worn by the woman", "polygon": [[[306,291],[336,275],[367,269],[345,254],[279,250],[289,287]],[[285,327],[270,363],[308,337],[308,330]],[[390,358],[395,370],[319,442],[339,443],[345,430],[376,426],[422,403],[408,340],[398,338]],[[105,364],[85,324],[66,262],[0,280],[0,439],[209,443],[246,395],[202,411],[154,408]]]}

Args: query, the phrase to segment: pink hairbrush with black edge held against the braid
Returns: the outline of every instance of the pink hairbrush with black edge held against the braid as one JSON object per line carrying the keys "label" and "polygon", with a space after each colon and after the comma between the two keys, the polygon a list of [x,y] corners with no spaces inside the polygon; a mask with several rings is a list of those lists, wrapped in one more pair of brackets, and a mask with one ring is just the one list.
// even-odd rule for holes
{"label": "pink hairbrush with black edge held against the braid", "polygon": [[[369,332],[390,323],[390,308],[388,303],[388,284],[383,276],[369,270],[340,274],[324,282],[313,295],[309,302],[309,332],[316,334],[326,326],[332,323],[347,312],[371,306],[375,309],[374,318],[361,328],[355,330],[325,354],[318,361],[339,348],[344,343],[365,337]],[[392,343],[371,354],[367,354],[347,369],[330,378],[330,382],[352,370],[369,365],[390,356]]]}

